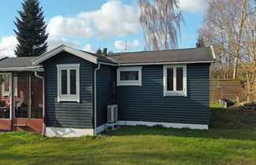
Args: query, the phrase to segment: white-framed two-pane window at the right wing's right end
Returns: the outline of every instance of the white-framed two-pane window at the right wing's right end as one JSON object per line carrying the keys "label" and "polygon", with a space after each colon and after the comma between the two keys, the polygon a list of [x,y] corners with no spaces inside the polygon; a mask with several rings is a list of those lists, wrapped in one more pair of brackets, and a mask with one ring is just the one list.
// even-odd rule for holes
{"label": "white-framed two-pane window at the right wing's right end", "polygon": [[186,97],[186,65],[164,66],[164,96]]}

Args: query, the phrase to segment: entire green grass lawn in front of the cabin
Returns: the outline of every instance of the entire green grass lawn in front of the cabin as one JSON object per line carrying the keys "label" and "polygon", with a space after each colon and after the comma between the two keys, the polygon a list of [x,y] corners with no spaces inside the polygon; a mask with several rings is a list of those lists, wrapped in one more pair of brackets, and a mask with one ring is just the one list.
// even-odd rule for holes
{"label": "entire green grass lawn in front of the cabin", "polygon": [[213,109],[209,130],[121,127],[99,136],[0,134],[0,164],[256,164],[256,114]]}

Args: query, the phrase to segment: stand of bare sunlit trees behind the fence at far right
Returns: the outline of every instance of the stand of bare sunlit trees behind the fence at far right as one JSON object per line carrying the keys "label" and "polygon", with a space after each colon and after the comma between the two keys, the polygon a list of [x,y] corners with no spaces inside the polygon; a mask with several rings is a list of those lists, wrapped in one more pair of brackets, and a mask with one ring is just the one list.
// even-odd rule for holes
{"label": "stand of bare sunlit trees behind the fence at far right", "polygon": [[212,78],[242,79],[247,83],[247,94],[256,92],[255,7],[254,0],[208,0],[198,30],[205,44],[216,50]]}

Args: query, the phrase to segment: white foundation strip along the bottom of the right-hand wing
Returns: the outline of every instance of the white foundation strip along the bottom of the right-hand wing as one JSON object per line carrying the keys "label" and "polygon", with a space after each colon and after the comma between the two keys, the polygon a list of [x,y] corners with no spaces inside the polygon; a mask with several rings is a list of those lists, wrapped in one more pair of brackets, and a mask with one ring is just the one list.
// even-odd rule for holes
{"label": "white foundation strip along the bottom of the right-hand wing", "polygon": [[164,122],[144,122],[144,121],[124,121],[119,120],[119,125],[121,126],[137,126],[137,125],[145,125],[145,126],[155,126],[162,125],[168,128],[190,128],[194,130],[208,130],[207,124],[189,124],[189,123],[164,123]]}

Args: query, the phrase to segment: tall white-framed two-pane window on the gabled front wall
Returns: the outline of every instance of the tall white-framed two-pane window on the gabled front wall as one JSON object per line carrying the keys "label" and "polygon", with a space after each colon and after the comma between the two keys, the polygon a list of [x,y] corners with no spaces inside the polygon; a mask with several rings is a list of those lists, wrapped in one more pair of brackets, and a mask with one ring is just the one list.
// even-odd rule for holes
{"label": "tall white-framed two-pane window on the gabled front wall", "polygon": [[80,101],[80,64],[57,64],[58,102]]}

